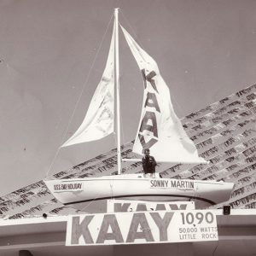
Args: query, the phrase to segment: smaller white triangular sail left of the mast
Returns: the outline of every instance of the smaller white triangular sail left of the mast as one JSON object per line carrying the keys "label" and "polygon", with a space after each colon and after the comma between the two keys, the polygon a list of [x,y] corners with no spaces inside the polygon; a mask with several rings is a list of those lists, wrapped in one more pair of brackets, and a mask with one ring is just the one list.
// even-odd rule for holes
{"label": "smaller white triangular sail left of the mast", "polygon": [[114,28],[108,61],[83,123],[61,147],[99,140],[113,133],[114,111]]}

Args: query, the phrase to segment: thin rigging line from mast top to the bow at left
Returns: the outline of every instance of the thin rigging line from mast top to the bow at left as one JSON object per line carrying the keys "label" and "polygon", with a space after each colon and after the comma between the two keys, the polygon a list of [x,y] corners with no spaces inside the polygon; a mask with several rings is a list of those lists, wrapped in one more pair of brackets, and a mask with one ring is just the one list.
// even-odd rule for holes
{"label": "thin rigging line from mast top to the bow at left", "polygon": [[[92,61],[92,64],[90,65],[90,69],[89,69],[89,72],[88,72],[87,77],[86,77],[86,79],[85,79],[84,86],[83,86],[83,88],[82,88],[82,90],[81,90],[81,93],[80,93],[80,95],[79,95],[79,98],[78,98],[78,100],[77,100],[77,102],[76,102],[76,104],[75,104],[75,107],[74,107],[74,109],[73,109],[73,113],[72,113],[72,115],[71,115],[71,117],[70,117],[70,119],[69,119],[69,121],[68,121],[67,129],[66,129],[66,131],[64,132],[64,135],[63,135],[63,137],[62,137],[62,139],[61,139],[61,143],[63,142],[64,138],[67,136],[68,128],[69,128],[69,126],[70,126],[70,124],[71,124],[71,121],[73,120],[74,113],[76,112],[76,110],[77,110],[77,108],[78,108],[78,106],[79,106],[79,102],[80,102],[80,100],[81,100],[81,97],[82,97],[82,95],[84,94],[85,85],[88,84],[89,77],[90,77],[90,73],[91,73],[91,71],[92,71],[92,68],[95,66],[95,62],[96,62],[97,56],[98,56],[100,50],[102,49],[102,44],[103,44],[104,39],[106,38],[106,34],[107,34],[107,32],[108,32],[108,27],[109,27],[110,22],[111,22],[112,19],[113,19],[113,14],[111,15],[110,20],[108,21],[108,26],[106,27],[106,30],[105,30],[104,35],[103,35],[103,37],[102,37],[102,41],[101,41],[101,43],[100,43],[100,45],[99,45],[99,47],[98,47],[98,49],[97,49],[97,52],[96,52],[96,55],[95,55],[95,57],[94,57],[94,60]],[[56,153],[55,153],[55,156],[54,156],[54,158],[53,158],[53,160],[52,160],[52,162],[51,162],[51,164],[50,164],[50,166],[49,166],[49,169],[48,169],[48,171],[47,171],[46,174],[45,174],[45,178],[46,178],[46,177],[49,177],[49,172],[50,172],[50,170],[51,170],[53,164],[55,163],[55,159],[56,159],[57,155],[59,154],[60,150],[61,150],[61,147],[59,147],[59,148],[57,149],[57,151],[56,151]]]}

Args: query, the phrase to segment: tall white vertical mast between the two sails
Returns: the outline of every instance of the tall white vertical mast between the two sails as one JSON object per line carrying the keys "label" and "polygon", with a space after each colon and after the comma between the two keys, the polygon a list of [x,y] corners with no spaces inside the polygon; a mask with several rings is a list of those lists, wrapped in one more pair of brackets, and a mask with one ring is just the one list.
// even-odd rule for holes
{"label": "tall white vertical mast between the two sails", "polygon": [[120,136],[120,100],[119,100],[119,9],[114,9],[114,67],[115,67],[115,89],[116,89],[116,136],[117,136],[117,158],[118,174],[121,174],[121,136]]}

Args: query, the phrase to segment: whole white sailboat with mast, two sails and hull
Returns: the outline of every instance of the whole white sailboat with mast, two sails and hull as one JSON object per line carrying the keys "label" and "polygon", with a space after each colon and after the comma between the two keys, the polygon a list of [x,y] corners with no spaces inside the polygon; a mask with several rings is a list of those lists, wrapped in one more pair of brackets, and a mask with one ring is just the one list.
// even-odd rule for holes
{"label": "whole white sailboat with mast, two sails and hull", "polygon": [[207,161],[198,155],[194,143],[183,131],[183,126],[172,108],[169,88],[160,75],[157,63],[119,25],[118,17],[119,9],[114,9],[113,34],[107,64],[84,121],[61,146],[99,140],[113,133],[116,126],[118,175],[50,179],[44,180],[44,183],[63,205],[84,212],[106,212],[109,199],[195,201],[196,208],[229,200],[234,183],[161,178],[158,173],[155,177],[145,177],[143,173],[121,174],[123,159],[119,112],[119,26],[144,81],[143,109],[132,151],[142,155],[143,150],[149,148],[157,162],[207,164]]}

